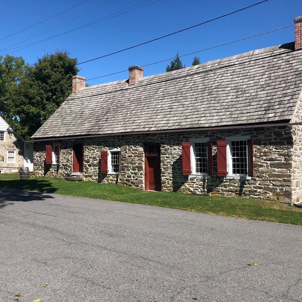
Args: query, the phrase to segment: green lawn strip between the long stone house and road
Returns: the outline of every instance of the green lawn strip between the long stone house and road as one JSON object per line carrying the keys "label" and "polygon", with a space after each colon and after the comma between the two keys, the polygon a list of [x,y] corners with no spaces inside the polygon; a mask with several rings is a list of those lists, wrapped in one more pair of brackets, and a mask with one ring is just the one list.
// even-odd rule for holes
{"label": "green lawn strip between the long stone house and road", "polygon": [[57,193],[169,207],[215,215],[302,225],[302,208],[261,199],[146,192],[95,182],[71,182],[59,178],[19,179],[19,174],[0,174],[0,187]]}

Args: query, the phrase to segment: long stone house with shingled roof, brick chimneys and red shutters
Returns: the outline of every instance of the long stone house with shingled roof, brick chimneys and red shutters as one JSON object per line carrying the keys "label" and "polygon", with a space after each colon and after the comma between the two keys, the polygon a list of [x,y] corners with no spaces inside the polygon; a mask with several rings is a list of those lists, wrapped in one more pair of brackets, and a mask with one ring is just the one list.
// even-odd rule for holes
{"label": "long stone house with shingled roof, brick chimneys and red shutters", "polygon": [[299,203],[302,17],[295,42],[85,86],[32,136],[38,176]]}

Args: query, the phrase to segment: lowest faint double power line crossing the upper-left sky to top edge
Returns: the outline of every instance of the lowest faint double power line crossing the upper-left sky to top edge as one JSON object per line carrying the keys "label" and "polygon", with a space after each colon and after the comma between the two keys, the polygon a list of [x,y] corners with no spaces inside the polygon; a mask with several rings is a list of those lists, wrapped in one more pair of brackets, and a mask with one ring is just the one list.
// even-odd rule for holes
{"label": "lowest faint double power line crossing the upper-left sky to top edge", "polygon": [[[138,10],[138,9],[143,8],[143,7],[145,7],[145,6],[148,6],[148,5],[150,5],[150,4],[159,2],[160,0],[155,0],[155,1],[151,2],[151,3],[142,5],[142,6],[138,7],[138,8],[134,8],[134,9],[132,9],[132,10],[129,10],[130,8],[136,7],[136,6],[140,5],[140,4],[143,4],[143,3],[148,2],[148,1],[150,1],[150,0],[144,0],[144,1],[142,1],[142,2],[140,2],[140,3],[138,3],[138,4],[136,4],[136,5],[133,5],[133,6],[128,7],[127,9],[118,11],[118,12],[116,12],[116,13],[114,13],[114,14],[109,15],[109,16],[100,18],[100,19],[98,19],[98,20],[96,20],[96,21],[87,23],[87,24],[85,24],[85,25],[81,25],[81,26],[79,26],[79,27],[73,28],[73,29],[68,30],[68,31],[66,31],[66,32],[57,34],[57,35],[55,35],[55,36],[51,36],[51,37],[48,37],[48,38],[45,38],[45,39],[42,39],[42,40],[39,40],[39,41],[36,41],[36,42],[32,42],[32,43],[29,43],[29,44],[21,45],[21,46],[18,46],[18,47],[14,47],[14,48],[10,48],[10,49],[7,49],[7,48],[6,48],[6,49],[7,49],[7,51],[10,51],[10,53],[15,52],[15,51],[18,51],[18,50],[22,50],[22,49],[28,48],[28,47],[30,47],[30,46],[33,46],[33,45],[36,45],[36,44],[39,44],[39,43],[48,41],[48,40],[50,40],[50,39],[53,39],[53,38],[56,38],[56,37],[59,37],[59,36],[68,34],[68,33],[70,33],[70,32],[73,32],[73,31],[76,31],[76,30],[79,30],[79,29],[82,29],[82,28],[85,28],[85,27],[88,27],[88,26],[91,26],[91,25],[100,23],[100,22],[102,22],[102,21],[106,21],[106,20],[109,20],[109,19],[112,19],[112,18],[121,16],[121,15],[124,15],[124,14],[126,14],[126,13],[129,13],[129,12],[132,12],[132,11],[135,11],[135,10]],[[266,0],[266,1],[268,1],[268,0]],[[128,11],[126,11],[126,10],[128,10]],[[125,11],[125,12],[124,12],[124,11]],[[120,13],[120,14],[118,14],[118,13]],[[15,50],[15,49],[16,49],[16,50]],[[14,51],[12,51],[12,50],[14,50]],[[1,50],[1,51],[2,51],[2,50]]]}

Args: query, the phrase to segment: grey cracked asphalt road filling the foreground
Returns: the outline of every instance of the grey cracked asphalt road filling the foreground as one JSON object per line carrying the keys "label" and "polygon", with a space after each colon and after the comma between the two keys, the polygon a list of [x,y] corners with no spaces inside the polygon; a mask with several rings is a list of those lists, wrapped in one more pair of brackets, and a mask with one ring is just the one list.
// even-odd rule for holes
{"label": "grey cracked asphalt road filling the foreground", "polygon": [[0,252],[3,302],[302,301],[295,225],[0,188]]}

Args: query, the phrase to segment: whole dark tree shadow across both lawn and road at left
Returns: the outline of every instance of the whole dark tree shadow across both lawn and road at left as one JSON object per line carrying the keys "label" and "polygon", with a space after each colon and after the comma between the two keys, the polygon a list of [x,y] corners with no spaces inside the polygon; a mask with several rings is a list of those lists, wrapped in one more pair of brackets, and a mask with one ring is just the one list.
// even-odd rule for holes
{"label": "whole dark tree shadow across both lawn and road at left", "polygon": [[[26,191],[24,191],[26,190]],[[39,192],[32,192],[39,191]],[[0,208],[18,201],[42,201],[54,198],[45,193],[54,193],[57,188],[47,180],[5,180],[0,181]]]}

